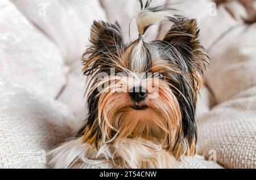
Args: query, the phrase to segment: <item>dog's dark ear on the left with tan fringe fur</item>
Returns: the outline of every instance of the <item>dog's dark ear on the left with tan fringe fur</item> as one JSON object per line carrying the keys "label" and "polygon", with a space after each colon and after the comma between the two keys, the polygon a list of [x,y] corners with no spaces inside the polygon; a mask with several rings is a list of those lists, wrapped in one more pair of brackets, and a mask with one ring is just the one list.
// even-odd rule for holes
{"label": "dog's dark ear on the left with tan fringe fur", "polygon": [[90,32],[90,46],[82,55],[84,75],[95,72],[98,68],[106,71],[105,67],[113,64],[109,57],[117,57],[125,46],[119,24],[109,24],[102,21],[94,21]]}

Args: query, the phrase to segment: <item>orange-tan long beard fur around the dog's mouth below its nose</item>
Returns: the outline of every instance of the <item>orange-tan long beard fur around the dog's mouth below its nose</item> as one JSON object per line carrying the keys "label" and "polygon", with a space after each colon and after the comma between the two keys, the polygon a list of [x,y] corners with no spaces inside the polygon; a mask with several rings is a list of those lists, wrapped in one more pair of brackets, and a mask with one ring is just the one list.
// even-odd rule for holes
{"label": "orange-tan long beard fur around the dog's mouth below its nose", "polygon": [[[143,138],[170,148],[178,131],[181,131],[179,103],[171,89],[158,81],[156,98],[146,98],[139,103],[130,100],[125,92],[102,93],[98,104],[98,123],[102,143],[123,138]],[[155,93],[155,92],[152,92]],[[145,107],[142,110],[133,106]]]}

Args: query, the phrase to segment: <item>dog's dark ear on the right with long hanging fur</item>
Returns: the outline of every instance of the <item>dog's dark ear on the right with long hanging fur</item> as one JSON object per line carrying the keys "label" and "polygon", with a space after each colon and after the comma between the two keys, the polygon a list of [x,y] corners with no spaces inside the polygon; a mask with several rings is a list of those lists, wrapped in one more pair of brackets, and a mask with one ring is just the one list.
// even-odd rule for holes
{"label": "dog's dark ear on the right with long hanging fur", "polygon": [[208,64],[208,55],[199,41],[199,29],[195,19],[184,19],[172,25],[163,41],[171,44],[188,65],[194,90],[199,93],[203,85],[202,75]]}

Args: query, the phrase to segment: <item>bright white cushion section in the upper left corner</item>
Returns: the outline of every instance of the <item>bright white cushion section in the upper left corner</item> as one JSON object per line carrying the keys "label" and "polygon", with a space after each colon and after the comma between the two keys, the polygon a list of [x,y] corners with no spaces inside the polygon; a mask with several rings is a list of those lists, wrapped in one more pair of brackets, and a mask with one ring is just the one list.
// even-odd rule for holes
{"label": "bright white cushion section in the upper left corner", "polygon": [[0,2],[0,76],[42,96],[55,97],[65,83],[59,49],[19,12]]}

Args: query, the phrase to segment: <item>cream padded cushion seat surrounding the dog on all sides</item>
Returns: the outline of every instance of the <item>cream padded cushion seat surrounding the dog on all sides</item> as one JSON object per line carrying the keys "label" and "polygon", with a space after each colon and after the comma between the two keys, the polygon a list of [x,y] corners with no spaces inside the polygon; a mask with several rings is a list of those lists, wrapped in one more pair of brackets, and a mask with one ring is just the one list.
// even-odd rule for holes
{"label": "cream padded cushion seat surrounding the dog on all sides", "polygon": [[[256,2],[171,3],[197,19],[211,58],[197,105],[198,155],[180,167],[256,168]],[[118,20],[129,40],[137,7],[136,0],[0,2],[0,168],[48,168],[46,151],[86,117],[80,57],[90,25]],[[147,40],[168,27],[152,28]],[[72,168],[117,167],[77,161]]]}

